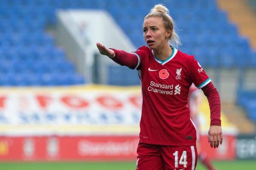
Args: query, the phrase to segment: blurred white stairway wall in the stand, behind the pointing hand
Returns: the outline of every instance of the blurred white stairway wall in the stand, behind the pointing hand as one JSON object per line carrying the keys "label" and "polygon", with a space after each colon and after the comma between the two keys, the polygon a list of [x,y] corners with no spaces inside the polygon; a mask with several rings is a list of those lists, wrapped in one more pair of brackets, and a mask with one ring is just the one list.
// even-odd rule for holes
{"label": "blurred white stairway wall in the stand, behind the pointing hand", "polygon": [[[95,54],[99,54],[96,42],[107,48],[135,51],[126,34],[115,20],[105,11],[98,10],[61,10],[57,12],[57,42],[67,50],[68,57],[77,65],[78,71],[93,82]],[[100,77],[106,82],[106,65],[116,64],[108,57],[100,57]]]}

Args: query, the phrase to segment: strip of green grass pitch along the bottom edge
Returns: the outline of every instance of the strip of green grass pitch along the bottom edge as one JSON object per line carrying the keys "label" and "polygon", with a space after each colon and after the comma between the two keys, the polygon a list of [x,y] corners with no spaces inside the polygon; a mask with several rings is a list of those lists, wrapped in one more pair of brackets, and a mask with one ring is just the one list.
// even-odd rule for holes
{"label": "strip of green grass pitch along the bottom edge", "polygon": [[[218,170],[255,170],[256,160],[214,161]],[[127,162],[0,162],[0,170],[135,170],[136,161]],[[207,170],[198,162],[196,170]]]}

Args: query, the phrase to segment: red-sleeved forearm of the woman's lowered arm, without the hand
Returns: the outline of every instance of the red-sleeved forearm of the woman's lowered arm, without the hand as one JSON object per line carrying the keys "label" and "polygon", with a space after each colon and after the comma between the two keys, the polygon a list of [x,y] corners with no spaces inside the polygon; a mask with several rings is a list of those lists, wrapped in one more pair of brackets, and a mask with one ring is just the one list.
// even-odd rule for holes
{"label": "red-sleeved forearm of the woman's lowered arm, without the hand", "polygon": [[214,87],[212,82],[202,88],[204,95],[207,96],[210,112],[211,112],[211,123],[210,125],[221,126],[221,99],[217,89]]}

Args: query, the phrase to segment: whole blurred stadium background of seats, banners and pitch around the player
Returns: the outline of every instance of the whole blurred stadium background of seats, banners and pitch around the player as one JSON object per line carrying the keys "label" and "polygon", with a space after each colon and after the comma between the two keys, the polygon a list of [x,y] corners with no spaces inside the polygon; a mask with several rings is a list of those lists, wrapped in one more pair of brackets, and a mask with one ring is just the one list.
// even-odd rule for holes
{"label": "whole blurred stadium background of seats, banners and pitch around the player", "polygon": [[[224,142],[202,149],[219,170],[256,167],[256,0],[0,0],[0,169],[134,170],[137,71],[99,54],[135,51],[158,3],[221,95]],[[198,170],[206,170],[198,163]]]}

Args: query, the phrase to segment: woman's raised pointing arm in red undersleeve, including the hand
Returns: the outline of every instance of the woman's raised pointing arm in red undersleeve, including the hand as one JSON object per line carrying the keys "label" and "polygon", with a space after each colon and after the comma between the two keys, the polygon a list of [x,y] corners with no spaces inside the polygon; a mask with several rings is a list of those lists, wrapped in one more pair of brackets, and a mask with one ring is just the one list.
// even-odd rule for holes
{"label": "woman's raised pointing arm in red undersleeve, including the hand", "polygon": [[140,64],[140,59],[134,53],[128,53],[123,50],[116,50],[114,48],[106,48],[101,43],[96,43],[100,54],[106,55],[119,65],[125,65],[131,69],[137,68]]}

